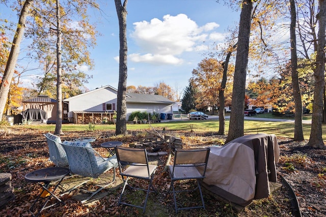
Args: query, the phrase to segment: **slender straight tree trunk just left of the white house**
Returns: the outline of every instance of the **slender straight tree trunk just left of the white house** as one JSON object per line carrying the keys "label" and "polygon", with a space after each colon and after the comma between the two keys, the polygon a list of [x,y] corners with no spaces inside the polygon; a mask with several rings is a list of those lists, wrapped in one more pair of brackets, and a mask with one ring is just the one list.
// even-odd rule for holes
{"label": "slender straight tree trunk just left of the white house", "polygon": [[57,118],[56,118],[56,135],[62,135],[62,71],[61,71],[61,17],[60,17],[60,0],[57,0]]}

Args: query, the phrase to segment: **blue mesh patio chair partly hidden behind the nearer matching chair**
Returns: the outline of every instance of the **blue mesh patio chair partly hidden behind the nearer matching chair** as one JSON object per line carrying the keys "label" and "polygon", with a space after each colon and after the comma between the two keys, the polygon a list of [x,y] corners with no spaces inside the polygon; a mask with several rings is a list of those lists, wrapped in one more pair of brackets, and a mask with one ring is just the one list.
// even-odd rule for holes
{"label": "blue mesh patio chair partly hidden behind the nearer matching chair", "polygon": [[57,167],[68,167],[68,159],[65,149],[61,145],[61,138],[51,133],[44,134],[49,147],[50,160]]}

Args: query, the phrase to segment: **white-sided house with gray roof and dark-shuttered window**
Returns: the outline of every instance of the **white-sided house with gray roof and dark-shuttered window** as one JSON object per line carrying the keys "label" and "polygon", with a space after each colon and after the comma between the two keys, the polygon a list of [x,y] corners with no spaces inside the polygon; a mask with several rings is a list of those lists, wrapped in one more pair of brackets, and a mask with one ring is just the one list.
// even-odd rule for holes
{"label": "white-sided house with gray roof and dark-shuttered window", "polygon": [[[83,94],[64,99],[68,104],[69,122],[87,123],[86,116],[94,118],[107,117],[111,120],[113,112],[117,109],[118,90],[110,85],[106,85]],[[173,113],[174,102],[159,96],[150,94],[126,94],[127,120],[133,111],[146,111],[148,113]],[[65,111],[64,111],[65,112]]]}

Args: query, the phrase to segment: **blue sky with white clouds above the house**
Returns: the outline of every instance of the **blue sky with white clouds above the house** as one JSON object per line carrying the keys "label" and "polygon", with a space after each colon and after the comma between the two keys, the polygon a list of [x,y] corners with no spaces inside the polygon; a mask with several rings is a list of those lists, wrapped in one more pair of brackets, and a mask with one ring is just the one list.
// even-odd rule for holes
{"label": "blue sky with white clouds above the house", "polygon": [[[129,0],[127,4],[128,77],[127,86],[155,86],[165,82],[182,91],[188,85],[193,69],[205,58],[207,47],[223,43],[227,28],[236,26],[239,12],[216,0]],[[119,23],[113,0],[100,0],[103,11],[90,10],[96,23],[97,45],[91,49],[95,68],[85,71],[93,78],[87,89],[111,85],[118,88]],[[3,5],[1,18],[15,18]],[[22,78],[30,85],[37,72]],[[28,76],[26,76],[28,75]]]}

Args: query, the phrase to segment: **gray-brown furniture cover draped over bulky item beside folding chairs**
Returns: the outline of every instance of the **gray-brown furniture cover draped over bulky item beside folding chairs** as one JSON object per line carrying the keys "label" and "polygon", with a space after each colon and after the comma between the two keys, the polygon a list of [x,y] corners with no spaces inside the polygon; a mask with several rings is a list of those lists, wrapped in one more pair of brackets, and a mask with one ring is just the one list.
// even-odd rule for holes
{"label": "gray-brown furniture cover draped over bulky item beside folding chairs", "polygon": [[203,187],[247,206],[270,195],[269,181],[277,182],[279,156],[275,135],[246,135],[224,146],[211,146]]}

